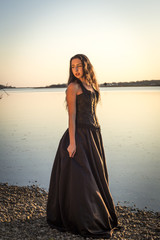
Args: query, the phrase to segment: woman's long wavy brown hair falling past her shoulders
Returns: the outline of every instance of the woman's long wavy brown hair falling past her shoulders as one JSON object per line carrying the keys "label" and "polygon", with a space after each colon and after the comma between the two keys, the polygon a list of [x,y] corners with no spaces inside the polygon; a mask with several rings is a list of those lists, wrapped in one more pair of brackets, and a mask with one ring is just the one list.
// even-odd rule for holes
{"label": "woman's long wavy brown hair falling past her shoulders", "polygon": [[72,66],[71,66],[72,60],[75,58],[80,59],[82,62],[83,77],[85,78],[86,83],[89,83],[90,85],[92,85],[99,92],[98,82],[94,73],[93,66],[90,60],[88,59],[88,57],[85,56],[84,54],[76,54],[70,59],[69,78],[68,78],[67,85],[77,80],[77,78],[73,75]]}

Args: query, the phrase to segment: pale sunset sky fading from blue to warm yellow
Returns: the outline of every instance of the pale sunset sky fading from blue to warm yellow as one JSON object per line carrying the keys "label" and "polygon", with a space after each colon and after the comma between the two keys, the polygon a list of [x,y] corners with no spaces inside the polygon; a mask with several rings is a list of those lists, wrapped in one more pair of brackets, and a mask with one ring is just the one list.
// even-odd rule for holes
{"label": "pale sunset sky fading from blue to warm yellow", "polygon": [[160,79],[160,0],[0,0],[0,84],[68,80],[87,55],[99,83]]}

